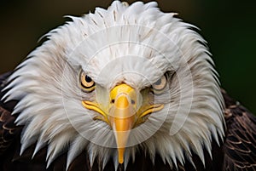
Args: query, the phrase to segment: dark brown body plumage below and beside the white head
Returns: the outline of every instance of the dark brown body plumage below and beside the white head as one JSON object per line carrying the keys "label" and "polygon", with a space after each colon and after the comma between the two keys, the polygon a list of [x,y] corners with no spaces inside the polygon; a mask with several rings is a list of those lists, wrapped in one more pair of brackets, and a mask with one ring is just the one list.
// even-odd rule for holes
{"label": "dark brown body plumage below and beside the white head", "polygon": [[[2,89],[5,80],[10,73],[0,77]],[[5,92],[0,94],[0,98]],[[206,166],[204,167],[200,158],[193,155],[195,167],[185,161],[184,166],[178,164],[178,169],[171,169],[170,166],[162,161],[160,156],[155,156],[154,163],[143,151],[138,151],[135,162],[130,161],[127,171],[171,171],[171,170],[256,170],[256,118],[247,111],[242,105],[232,100],[228,94],[222,92],[225,100],[224,118],[227,126],[224,144],[218,146],[212,142],[212,158],[205,151]],[[15,125],[15,118],[11,112],[15,107],[15,101],[8,103],[0,102],[0,170],[3,171],[65,171],[67,153],[63,153],[55,159],[49,168],[46,168],[46,151],[44,147],[32,158],[34,145],[29,147],[20,156],[20,134],[22,127]],[[79,157],[72,162],[68,171],[97,171],[101,168],[95,162],[90,167],[88,154],[82,152]],[[196,168],[196,169],[195,169]],[[104,171],[112,171],[113,162],[110,161]],[[125,170],[123,165],[119,165],[119,171]]]}

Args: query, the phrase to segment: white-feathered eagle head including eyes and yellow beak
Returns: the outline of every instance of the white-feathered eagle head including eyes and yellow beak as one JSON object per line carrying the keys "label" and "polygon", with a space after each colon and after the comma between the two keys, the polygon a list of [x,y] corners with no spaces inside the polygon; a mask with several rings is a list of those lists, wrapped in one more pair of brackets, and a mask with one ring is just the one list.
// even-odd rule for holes
{"label": "white-feathered eagle head including eyes and yellow beak", "polygon": [[19,100],[21,151],[47,146],[48,165],[82,151],[102,168],[143,149],[177,167],[204,162],[224,136],[223,98],[205,41],[156,3],[115,1],[50,31],[9,77],[4,98]]}

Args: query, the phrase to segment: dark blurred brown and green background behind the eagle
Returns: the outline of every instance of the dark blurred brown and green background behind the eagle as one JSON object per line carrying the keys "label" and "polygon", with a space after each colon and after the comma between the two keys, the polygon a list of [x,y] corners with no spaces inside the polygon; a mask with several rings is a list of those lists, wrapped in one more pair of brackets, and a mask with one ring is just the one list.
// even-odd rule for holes
{"label": "dark blurred brown and green background behind the eagle", "polygon": [[[1,0],[0,73],[17,66],[38,38],[65,22],[66,14],[106,8],[111,0]],[[127,1],[132,3],[134,1]],[[144,1],[148,2],[148,1]],[[201,28],[222,87],[256,113],[256,1],[159,0],[160,9]]]}

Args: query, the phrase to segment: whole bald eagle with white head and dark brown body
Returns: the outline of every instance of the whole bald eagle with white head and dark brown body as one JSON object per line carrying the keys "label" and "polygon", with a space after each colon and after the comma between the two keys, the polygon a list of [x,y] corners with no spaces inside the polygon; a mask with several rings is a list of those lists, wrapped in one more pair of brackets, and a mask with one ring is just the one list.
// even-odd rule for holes
{"label": "whole bald eagle with white head and dark brown body", "polygon": [[0,169],[256,170],[256,119],[157,3],[70,16],[0,77]]}

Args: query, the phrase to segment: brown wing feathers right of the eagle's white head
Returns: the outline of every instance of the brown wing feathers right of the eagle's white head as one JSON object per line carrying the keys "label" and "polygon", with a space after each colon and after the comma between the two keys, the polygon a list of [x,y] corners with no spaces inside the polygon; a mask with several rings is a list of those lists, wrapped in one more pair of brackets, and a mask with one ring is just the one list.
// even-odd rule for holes
{"label": "brown wing feathers right of the eagle's white head", "polygon": [[256,170],[256,117],[224,91],[224,170]]}

